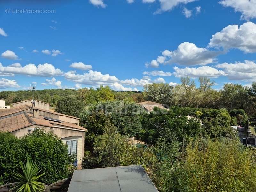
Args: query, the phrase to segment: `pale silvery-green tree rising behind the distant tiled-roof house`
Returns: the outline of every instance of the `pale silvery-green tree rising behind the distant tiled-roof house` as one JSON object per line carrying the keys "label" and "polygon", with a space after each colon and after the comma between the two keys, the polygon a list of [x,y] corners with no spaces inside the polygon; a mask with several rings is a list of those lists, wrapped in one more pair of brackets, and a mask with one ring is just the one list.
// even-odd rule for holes
{"label": "pale silvery-green tree rising behind the distant tiled-roof house", "polygon": [[143,91],[146,100],[171,105],[172,89],[167,83],[153,83],[144,85]]}

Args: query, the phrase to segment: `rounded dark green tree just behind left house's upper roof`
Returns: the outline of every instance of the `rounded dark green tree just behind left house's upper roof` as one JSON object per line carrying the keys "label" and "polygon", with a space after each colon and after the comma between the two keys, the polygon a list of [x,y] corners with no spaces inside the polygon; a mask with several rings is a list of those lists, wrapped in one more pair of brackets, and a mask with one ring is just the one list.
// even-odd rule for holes
{"label": "rounded dark green tree just behind left house's upper roof", "polygon": [[84,102],[76,97],[65,97],[58,100],[55,111],[70,116],[79,117],[84,109]]}

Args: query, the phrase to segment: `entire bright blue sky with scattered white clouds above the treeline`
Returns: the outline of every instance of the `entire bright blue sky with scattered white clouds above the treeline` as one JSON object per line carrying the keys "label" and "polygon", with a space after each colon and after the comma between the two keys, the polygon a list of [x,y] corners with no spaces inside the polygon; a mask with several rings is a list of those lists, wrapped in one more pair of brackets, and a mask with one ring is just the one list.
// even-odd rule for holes
{"label": "entire bright blue sky with scattered white clouds above the treeline", "polygon": [[[0,90],[256,81],[256,2],[0,2]],[[33,13],[34,12],[34,13]]]}

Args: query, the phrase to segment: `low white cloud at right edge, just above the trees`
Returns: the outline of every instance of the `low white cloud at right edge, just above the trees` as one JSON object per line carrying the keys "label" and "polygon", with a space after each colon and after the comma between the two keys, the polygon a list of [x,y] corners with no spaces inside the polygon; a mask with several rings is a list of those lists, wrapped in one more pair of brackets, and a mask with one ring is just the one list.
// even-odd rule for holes
{"label": "low white cloud at right edge, just above the trees", "polygon": [[230,80],[256,80],[256,63],[253,61],[221,63],[216,67],[224,69]]}

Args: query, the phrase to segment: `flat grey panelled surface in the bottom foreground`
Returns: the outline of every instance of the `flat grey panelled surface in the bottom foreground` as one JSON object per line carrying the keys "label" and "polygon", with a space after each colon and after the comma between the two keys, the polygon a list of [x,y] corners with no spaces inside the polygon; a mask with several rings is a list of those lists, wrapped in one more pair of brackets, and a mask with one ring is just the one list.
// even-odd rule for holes
{"label": "flat grey panelled surface in the bottom foreground", "polygon": [[68,192],[158,192],[141,165],[76,170]]}

